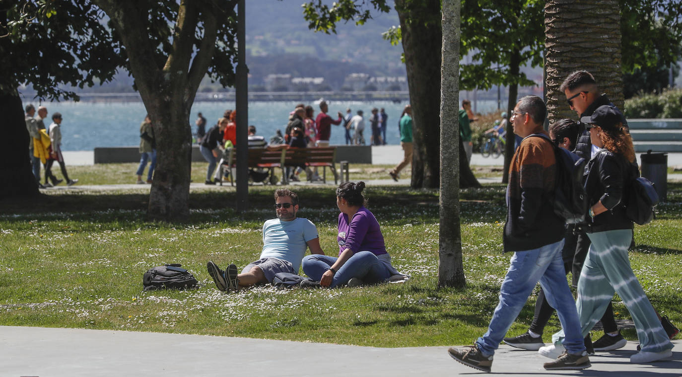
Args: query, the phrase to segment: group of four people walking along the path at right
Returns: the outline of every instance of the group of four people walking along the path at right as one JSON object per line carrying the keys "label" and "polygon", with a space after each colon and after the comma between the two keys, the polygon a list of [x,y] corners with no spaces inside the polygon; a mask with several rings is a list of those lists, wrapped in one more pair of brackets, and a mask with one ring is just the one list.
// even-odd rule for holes
{"label": "group of four people walking along the path at right", "polygon": [[[625,117],[605,94],[599,93],[589,72],[567,76],[561,91],[580,122],[560,120],[546,132],[546,105],[537,96],[521,98],[509,120],[514,133],[523,138],[509,167],[503,235],[504,251],[514,254],[488,331],[473,346],[448,350],[460,363],[484,372],[490,372],[493,354],[501,341],[538,350],[553,359],[544,364],[545,369],[590,367],[589,355],[597,347],[591,343],[589,332],[600,318],[605,334],[595,342],[598,349],[625,346],[625,339],[612,322],[610,301],[614,292],[632,315],[640,341],[640,350],[630,361],[648,363],[672,356],[670,339],[677,329],[672,325],[670,331],[664,329],[665,321],[662,323],[651,306],[627,255],[633,225],[625,206],[630,182],[638,176],[638,170]],[[578,156],[589,160],[584,173],[589,216],[586,223],[576,227],[567,227],[554,213],[554,148],[573,148]],[[565,279],[569,270],[578,287],[576,301]],[[538,281],[542,296],[538,298],[531,330],[520,337],[505,338]],[[563,329],[554,334],[552,344],[544,346],[542,329],[552,308]],[[604,319],[605,311],[611,321]]]}

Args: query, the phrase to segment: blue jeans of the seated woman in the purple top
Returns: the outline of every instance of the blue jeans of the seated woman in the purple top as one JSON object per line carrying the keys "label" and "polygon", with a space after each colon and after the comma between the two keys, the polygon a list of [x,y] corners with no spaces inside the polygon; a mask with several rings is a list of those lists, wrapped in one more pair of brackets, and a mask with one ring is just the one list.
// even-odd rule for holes
{"label": "blue jeans of the seated woman in the purple top", "polygon": [[[320,281],[322,275],[333,266],[338,258],[329,255],[312,254],[303,258],[303,272],[314,281]],[[386,266],[371,251],[358,251],[336,271],[329,288],[348,283],[357,277],[363,283],[381,283],[391,277]]]}

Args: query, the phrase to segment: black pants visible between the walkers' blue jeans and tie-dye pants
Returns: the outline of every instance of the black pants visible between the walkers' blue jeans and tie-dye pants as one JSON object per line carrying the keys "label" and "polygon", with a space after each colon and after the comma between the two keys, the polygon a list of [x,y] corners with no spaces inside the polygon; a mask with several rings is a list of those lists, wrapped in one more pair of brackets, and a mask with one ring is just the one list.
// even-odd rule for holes
{"label": "black pants visible between the walkers' blue jeans and tie-dye pants", "polygon": [[[576,287],[578,286],[580,270],[582,270],[582,265],[585,262],[585,257],[587,257],[590,244],[591,242],[589,237],[587,237],[587,234],[574,234],[573,228],[570,226],[568,227],[561,255],[563,257],[563,266],[566,273],[569,271],[572,271],[573,273],[573,285]],[[533,317],[533,323],[529,330],[533,331],[533,333],[542,335],[552,313],[554,313],[554,308],[547,302],[545,292],[540,288],[540,292],[537,294],[537,301],[535,301],[535,316]],[[614,333],[618,331],[616,320],[613,317],[613,306],[611,303],[608,303],[608,307],[606,307],[606,311],[604,311],[604,316],[602,316],[602,326],[604,326],[604,333]]]}

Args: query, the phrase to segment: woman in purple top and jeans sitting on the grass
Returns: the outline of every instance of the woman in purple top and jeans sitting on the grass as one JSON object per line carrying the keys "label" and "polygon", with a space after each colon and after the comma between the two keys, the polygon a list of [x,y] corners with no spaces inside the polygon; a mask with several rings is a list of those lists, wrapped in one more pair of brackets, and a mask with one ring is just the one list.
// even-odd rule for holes
{"label": "woman in purple top and jeans sitting on the grass", "polygon": [[391,266],[379,222],[365,208],[364,188],[365,182],[346,182],[336,189],[336,206],[341,211],[338,217],[338,258],[328,255],[303,258],[303,272],[323,287],[381,283],[392,275],[400,275]]}

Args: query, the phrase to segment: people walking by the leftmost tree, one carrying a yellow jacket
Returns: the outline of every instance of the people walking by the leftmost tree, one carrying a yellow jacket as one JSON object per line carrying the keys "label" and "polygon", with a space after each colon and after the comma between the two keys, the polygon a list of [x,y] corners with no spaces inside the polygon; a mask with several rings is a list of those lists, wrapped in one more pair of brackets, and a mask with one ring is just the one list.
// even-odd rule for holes
{"label": "people walking by the leftmost tree, one carrying a yellow jacket", "polygon": [[[63,120],[61,113],[54,113],[52,115],[52,123],[46,127],[44,120],[48,115],[47,108],[44,106],[38,107],[38,116],[35,116],[35,106],[27,104],[25,108],[24,120],[26,128],[29,131],[29,158],[31,159],[31,169],[33,177],[38,183],[40,189],[47,189],[48,187],[57,186],[66,180],[68,186],[72,186],[78,182],[77,179],[69,178],[64,163],[64,156],[61,153],[61,122]],[[52,165],[57,161],[61,169],[63,179],[55,177],[52,173]],[[45,181],[40,183],[40,165],[43,165],[45,170]]]}

